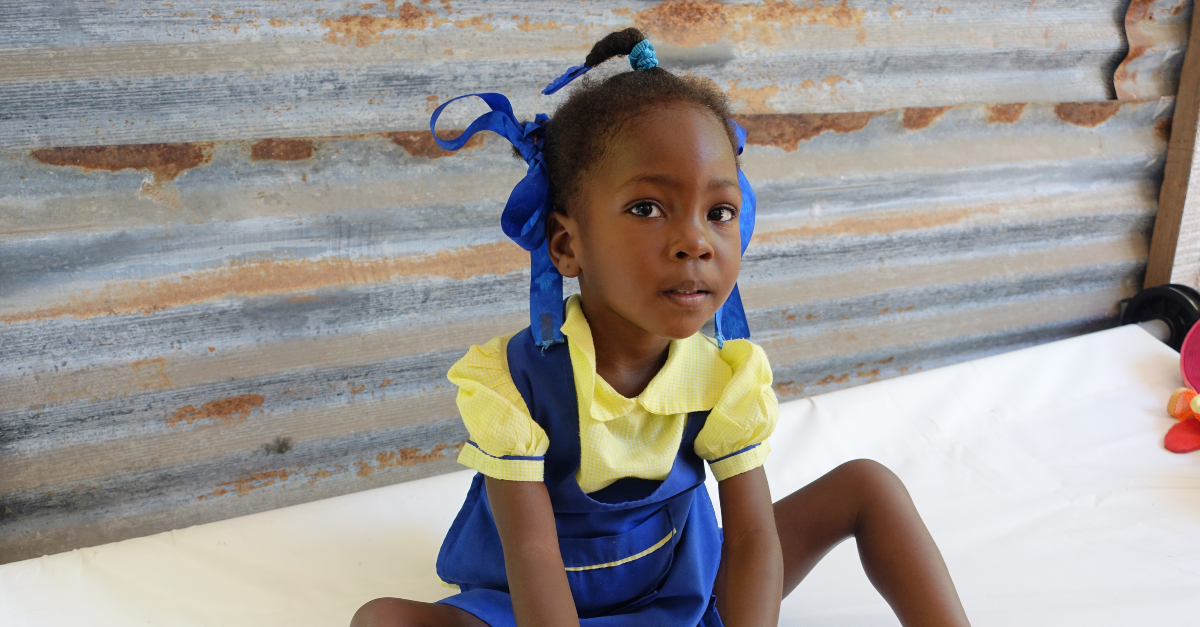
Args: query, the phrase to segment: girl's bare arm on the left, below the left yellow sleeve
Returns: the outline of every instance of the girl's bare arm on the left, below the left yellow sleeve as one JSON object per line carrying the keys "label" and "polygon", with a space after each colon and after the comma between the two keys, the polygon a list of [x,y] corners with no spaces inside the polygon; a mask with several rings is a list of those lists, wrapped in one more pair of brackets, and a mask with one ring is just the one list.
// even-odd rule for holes
{"label": "girl's bare arm on the left, below the left yellow sleeve", "polygon": [[[554,512],[550,506],[546,484],[491,477],[485,482],[487,503],[492,508],[492,518],[496,519],[496,529],[504,547],[504,568],[509,575],[509,595],[512,597],[512,614],[517,625],[577,626],[580,617],[575,611],[571,587],[566,583],[563,556],[558,551],[558,530],[554,527]],[[774,529],[772,526],[773,532]],[[778,539],[775,553],[779,553]]]}

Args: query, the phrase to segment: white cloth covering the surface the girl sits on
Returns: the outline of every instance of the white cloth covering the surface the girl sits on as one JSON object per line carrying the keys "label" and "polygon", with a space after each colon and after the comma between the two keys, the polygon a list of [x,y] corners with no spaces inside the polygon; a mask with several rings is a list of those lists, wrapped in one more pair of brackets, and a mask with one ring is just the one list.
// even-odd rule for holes
{"label": "white cloth covering the surface the girl sits on", "polygon": [[[775,497],[871,458],[908,485],[979,626],[1200,625],[1200,453],[1162,447],[1178,356],[1122,327],[785,404]],[[0,566],[0,625],[330,626],[433,573],[456,472]],[[715,500],[715,485],[710,485]],[[852,542],[781,625],[898,625]]]}

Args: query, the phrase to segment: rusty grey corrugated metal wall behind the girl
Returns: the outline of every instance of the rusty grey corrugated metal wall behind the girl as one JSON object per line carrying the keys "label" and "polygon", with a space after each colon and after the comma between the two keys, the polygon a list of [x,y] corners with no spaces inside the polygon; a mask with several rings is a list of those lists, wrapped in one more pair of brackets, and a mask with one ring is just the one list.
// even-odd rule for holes
{"label": "rusty grey corrugated metal wall behind the girl", "polygon": [[445,370],[527,323],[523,166],[428,112],[550,111],[630,24],[750,131],[781,398],[1111,326],[1182,56],[1106,100],[1127,8],[0,1],[0,561],[454,468]]}

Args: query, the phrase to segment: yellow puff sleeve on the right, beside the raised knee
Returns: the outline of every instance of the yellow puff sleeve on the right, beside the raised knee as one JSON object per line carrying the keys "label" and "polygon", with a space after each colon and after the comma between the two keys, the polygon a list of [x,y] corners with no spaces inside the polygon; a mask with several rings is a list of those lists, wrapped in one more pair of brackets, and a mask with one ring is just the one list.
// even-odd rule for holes
{"label": "yellow puff sleeve on the right, beside the raised knee", "polygon": [[696,454],[708,460],[716,480],[762,466],[767,437],[779,420],[767,353],[749,340],[730,340],[720,350],[733,375],[696,436]]}

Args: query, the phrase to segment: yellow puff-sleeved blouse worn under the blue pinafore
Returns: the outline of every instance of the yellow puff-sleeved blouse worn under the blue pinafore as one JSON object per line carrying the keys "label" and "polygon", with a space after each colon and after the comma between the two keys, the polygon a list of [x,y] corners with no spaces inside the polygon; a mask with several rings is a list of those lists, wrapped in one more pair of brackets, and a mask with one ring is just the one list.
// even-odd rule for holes
{"label": "yellow puff-sleeved blouse worn under the blue pinafore", "polygon": [[[595,348],[580,298],[566,303],[563,334],[575,370],[580,407],[580,470],[576,480],[594,492],[617,479],[661,480],[674,464],[691,412],[710,410],[695,450],[718,480],[762,465],[766,442],[779,419],[770,365],[749,340],[721,348],[703,334],[673,340],[667,362],[637,398],[626,399],[596,376]],[[546,432],[529,417],[508,369],[508,341],[472,346],[449,372],[458,386],[458,411],[470,441],[458,462],[488,477],[542,480]]]}

